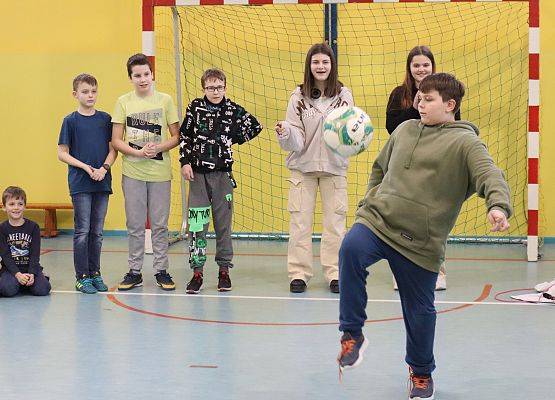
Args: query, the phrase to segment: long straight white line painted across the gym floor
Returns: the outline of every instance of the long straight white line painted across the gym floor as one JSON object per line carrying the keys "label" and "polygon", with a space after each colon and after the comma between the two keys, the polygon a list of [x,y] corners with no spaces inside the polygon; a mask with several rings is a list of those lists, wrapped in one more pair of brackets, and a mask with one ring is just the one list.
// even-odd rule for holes
{"label": "long straight white line painted across the gym floor", "polygon": [[[76,290],[52,290],[51,293],[60,294],[79,294],[83,293]],[[217,294],[185,294],[185,293],[133,293],[133,292],[98,292],[97,294],[114,296],[160,296],[160,297],[189,297],[189,298],[207,298],[207,299],[244,299],[244,300],[291,300],[291,301],[334,301],[339,299],[330,299],[325,297],[271,297],[271,296],[229,296]],[[400,300],[390,299],[369,299],[368,303],[400,303]],[[526,302],[501,302],[501,301],[443,301],[438,300],[435,304],[470,304],[470,305],[486,305],[486,306],[543,306],[551,303],[526,303]]]}

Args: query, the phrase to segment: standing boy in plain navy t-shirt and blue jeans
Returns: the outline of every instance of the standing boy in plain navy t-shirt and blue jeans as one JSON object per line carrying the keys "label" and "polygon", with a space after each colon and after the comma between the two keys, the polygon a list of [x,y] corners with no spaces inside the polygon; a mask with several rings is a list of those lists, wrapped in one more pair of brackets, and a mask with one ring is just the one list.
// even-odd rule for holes
{"label": "standing boy in plain navy t-shirt and blue jeans", "polygon": [[64,118],[58,139],[58,159],[68,164],[74,208],[75,288],[89,294],[108,290],[100,275],[100,251],[112,194],[110,167],[117,156],[110,143],[111,116],[94,108],[97,87],[92,75],[81,74],[73,80],[73,97],[79,106]]}

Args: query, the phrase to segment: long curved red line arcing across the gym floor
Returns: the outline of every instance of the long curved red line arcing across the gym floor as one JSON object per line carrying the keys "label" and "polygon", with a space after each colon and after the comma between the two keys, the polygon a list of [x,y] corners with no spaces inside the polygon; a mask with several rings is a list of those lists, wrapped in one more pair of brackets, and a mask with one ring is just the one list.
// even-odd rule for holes
{"label": "long curved red line arcing across the gym floor", "polygon": [[[481,302],[486,299],[489,294],[491,293],[491,284],[484,285],[482,293],[476,299],[473,300],[474,303]],[[110,292],[114,292],[116,288],[111,288]],[[201,322],[201,323],[210,323],[210,324],[223,324],[223,325],[238,325],[238,326],[326,326],[326,325],[338,325],[338,322],[244,322],[244,321],[221,321],[221,320],[210,320],[210,319],[201,319],[201,318],[191,318],[191,317],[181,317],[178,315],[170,315],[170,314],[163,314],[157,313],[148,310],[142,310],[140,308],[132,307],[124,302],[118,300],[114,294],[109,294],[108,300],[110,300],[115,305],[122,307],[126,310],[137,312],[140,314],[149,315],[151,317],[159,317],[159,318],[168,318],[168,319],[175,319],[180,321],[189,321],[189,322]],[[442,311],[438,311],[438,314],[444,314],[451,311],[458,311],[462,310],[467,307],[471,307],[474,304],[462,304],[457,307],[448,308]],[[399,321],[402,320],[403,317],[391,317],[391,318],[383,318],[383,319],[371,319],[367,320],[366,323],[377,323],[377,322],[390,322],[390,321]]]}

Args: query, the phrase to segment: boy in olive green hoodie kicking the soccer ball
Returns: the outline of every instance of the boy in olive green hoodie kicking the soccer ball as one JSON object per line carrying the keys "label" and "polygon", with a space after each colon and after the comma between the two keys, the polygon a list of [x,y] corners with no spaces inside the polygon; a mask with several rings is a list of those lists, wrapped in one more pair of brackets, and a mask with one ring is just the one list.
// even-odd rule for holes
{"label": "boy in olive green hoodie kicking the soccer ball", "polygon": [[447,236],[472,194],[485,199],[492,231],[509,228],[509,187],[478,128],[455,121],[464,86],[439,73],[420,84],[421,120],[393,132],[372,167],[357,219],[339,251],[341,370],[357,366],[367,346],[367,268],[386,259],[399,285],[406,328],[411,399],[433,399],[434,289]]}

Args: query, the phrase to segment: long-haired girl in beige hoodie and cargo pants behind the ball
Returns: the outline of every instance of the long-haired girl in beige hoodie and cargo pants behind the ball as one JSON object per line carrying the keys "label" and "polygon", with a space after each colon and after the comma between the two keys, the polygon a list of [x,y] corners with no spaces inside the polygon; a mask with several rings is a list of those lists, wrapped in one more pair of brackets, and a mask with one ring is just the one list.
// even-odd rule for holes
{"label": "long-haired girl in beige hoodie and cargo pants behind the ball", "polygon": [[338,253],[346,231],[348,160],[323,141],[322,126],[337,107],[352,106],[353,95],[338,80],[337,61],[325,43],[313,45],[305,61],[304,81],[292,93],[285,121],[276,124],[291,170],[288,210],[287,270],[290,290],[302,293],[313,276],[312,226],[316,194],[322,200],[320,262],[329,289],[339,293]]}

